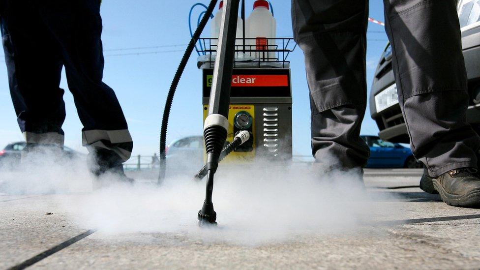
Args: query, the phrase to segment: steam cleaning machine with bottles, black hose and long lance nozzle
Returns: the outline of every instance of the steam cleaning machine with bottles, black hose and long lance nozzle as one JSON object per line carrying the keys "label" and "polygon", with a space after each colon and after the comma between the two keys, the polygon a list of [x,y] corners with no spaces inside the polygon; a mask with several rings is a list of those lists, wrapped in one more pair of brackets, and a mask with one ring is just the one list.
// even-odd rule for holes
{"label": "steam cleaning machine with bottles, black hose and long lance nozzle", "polygon": [[[217,0],[211,0],[205,6],[207,10],[180,62],[167,96],[160,135],[159,183],[165,177],[166,130],[173,96],[188,57],[199,42],[197,64],[203,72],[206,165],[195,179],[207,176],[206,198],[198,212],[200,226],[216,224],[212,190],[221,159],[254,162],[258,158],[272,161],[292,158],[292,91],[290,63],[286,59],[296,44],[291,38],[274,37],[274,19],[269,17],[273,10],[271,15],[265,12],[269,6],[272,8],[266,0],[254,2],[254,10],[246,20],[247,31],[244,0],[241,0],[241,19],[238,18],[240,0],[221,1],[214,20],[219,23],[218,38],[200,38],[216,3]],[[270,34],[259,32],[258,24],[264,28],[270,24],[266,29]],[[237,29],[242,29],[241,35]]]}

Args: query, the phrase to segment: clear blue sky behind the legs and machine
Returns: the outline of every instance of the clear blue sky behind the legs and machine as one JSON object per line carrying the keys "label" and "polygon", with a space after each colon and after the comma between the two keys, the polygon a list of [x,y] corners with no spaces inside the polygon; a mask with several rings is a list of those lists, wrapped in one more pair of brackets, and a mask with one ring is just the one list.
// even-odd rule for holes
{"label": "clear blue sky behind the legs and machine", "polygon": [[[158,151],[160,123],[165,97],[183,50],[190,39],[188,12],[190,7],[208,0],[103,0],[103,46],[105,54],[104,82],[112,87],[120,100],[134,140],[133,154],[152,155]],[[277,22],[277,36],[291,37],[290,0],[271,0]],[[246,0],[246,16],[253,0]],[[196,25],[202,8],[194,11]],[[370,17],[384,21],[383,2],[370,0]],[[194,21],[194,22],[193,22]],[[384,28],[370,23],[367,48],[368,92],[379,57],[387,43]],[[210,23],[203,36],[209,37]],[[172,46],[179,45],[179,46]],[[126,50],[125,48],[156,47]],[[166,47],[160,47],[166,46]],[[121,50],[117,50],[121,49]],[[146,53],[139,54],[136,53]],[[183,73],[172,107],[167,141],[202,133],[201,71],[194,53]],[[305,80],[303,54],[299,48],[290,54],[293,86],[293,150],[296,155],[310,155],[310,107]],[[86,151],[81,146],[82,124],[73,98],[62,75],[60,87],[65,89],[67,116],[63,125],[65,145]],[[8,90],[6,67],[0,61],[0,148],[12,141],[21,141]],[[377,134],[367,106],[362,134]]]}

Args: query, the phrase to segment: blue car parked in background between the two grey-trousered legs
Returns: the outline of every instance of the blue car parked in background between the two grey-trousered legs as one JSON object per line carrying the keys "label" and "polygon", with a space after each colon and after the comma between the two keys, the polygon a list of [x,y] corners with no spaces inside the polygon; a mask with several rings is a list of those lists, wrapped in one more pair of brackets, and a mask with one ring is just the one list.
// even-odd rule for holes
{"label": "blue car parked in background between the two grey-trousered legs", "polygon": [[410,148],[380,139],[377,136],[360,136],[370,148],[366,168],[422,168]]}

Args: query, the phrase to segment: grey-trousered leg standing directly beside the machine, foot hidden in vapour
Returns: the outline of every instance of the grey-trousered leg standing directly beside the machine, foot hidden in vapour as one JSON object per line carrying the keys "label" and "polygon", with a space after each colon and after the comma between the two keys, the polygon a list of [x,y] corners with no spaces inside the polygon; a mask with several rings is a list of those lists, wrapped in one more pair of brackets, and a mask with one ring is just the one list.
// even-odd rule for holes
{"label": "grey-trousered leg standing directly beside the machine, foot hidden in vapour", "polygon": [[[294,37],[305,56],[315,159],[363,167],[367,0],[292,0]],[[332,160],[334,159],[334,160]]]}

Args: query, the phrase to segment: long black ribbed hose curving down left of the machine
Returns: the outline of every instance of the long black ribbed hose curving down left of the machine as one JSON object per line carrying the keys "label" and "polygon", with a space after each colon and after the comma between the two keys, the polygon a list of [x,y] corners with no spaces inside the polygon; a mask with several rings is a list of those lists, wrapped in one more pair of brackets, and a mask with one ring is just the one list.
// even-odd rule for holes
{"label": "long black ribbed hose curving down left of the machine", "polygon": [[177,90],[181,74],[183,73],[183,70],[185,70],[185,66],[187,65],[188,58],[190,58],[190,55],[193,52],[193,48],[195,48],[195,44],[197,43],[200,35],[205,29],[205,26],[207,25],[207,22],[209,21],[210,15],[213,13],[213,9],[215,8],[216,4],[217,0],[210,1],[205,15],[200,21],[197,30],[195,30],[192,39],[190,39],[185,53],[183,53],[183,57],[181,58],[179,67],[177,68],[177,72],[175,72],[172,84],[170,85],[170,90],[168,91],[167,100],[165,102],[165,109],[163,110],[162,128],[160,130],[160,173],[158,174],[158,183],[161,183],[161,181],[165,178],[165,147],[167,146],[167,126],[168,118],[170,117],[170,109],[172,108],[173,96],[175,95],[175,90]]}

